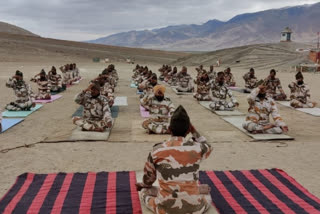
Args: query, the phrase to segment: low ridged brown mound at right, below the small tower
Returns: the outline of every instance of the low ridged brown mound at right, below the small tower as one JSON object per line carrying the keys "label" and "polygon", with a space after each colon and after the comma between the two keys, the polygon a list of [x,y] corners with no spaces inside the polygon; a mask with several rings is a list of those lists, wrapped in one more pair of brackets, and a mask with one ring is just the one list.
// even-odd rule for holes
{"label": "low ridged brown mound at right, below the small tower", "polygon": [[213,52],[193,54],[178,59],[178,65],[212,65],[221,60],[223,65],[239,68],[280,68],[291,67],[302,62],[308,62],[308,52],[298,52],[299,48],[310,48],[300,43],[275,43],[249,45],[229,48]]}

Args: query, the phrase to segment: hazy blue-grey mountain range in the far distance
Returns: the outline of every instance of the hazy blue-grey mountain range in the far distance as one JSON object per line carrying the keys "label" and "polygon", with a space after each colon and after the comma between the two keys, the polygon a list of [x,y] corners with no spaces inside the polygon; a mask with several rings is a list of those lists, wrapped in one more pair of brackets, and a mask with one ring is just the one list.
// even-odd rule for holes
{"label": "hazy blue-grey mountain range in the far distance", "polygon": [[296,42],[315,42],[320,31],[320,3],[272,9],[235,16],[229,21],[210,20],[202,25],[130,31],[91,43],[175,51],[212,51],[250,44],[280,41],[285,27]]}

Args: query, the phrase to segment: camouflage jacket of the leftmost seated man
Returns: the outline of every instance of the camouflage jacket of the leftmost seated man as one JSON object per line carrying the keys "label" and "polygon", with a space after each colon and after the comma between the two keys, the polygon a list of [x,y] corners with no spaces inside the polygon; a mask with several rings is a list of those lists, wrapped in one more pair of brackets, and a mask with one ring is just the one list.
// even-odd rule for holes
{"label": "camouflage jacket of the leftmost seated man", "polygon": [[17,97],[16,102],[24,103],[31,100],[33,96],[33,92],[31,86],[27,84],[24,80],[17,81],[14,78],[10,78],[6,83],[8,88],[12,88]]}

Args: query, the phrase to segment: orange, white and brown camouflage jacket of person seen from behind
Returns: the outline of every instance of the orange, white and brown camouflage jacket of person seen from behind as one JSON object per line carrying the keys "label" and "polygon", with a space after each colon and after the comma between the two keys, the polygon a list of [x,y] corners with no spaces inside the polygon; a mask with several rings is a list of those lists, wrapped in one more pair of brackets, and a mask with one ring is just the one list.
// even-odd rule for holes
{"label": "orange, white and brown camouflage jacket of person seen from behind", "polygon": [[211,152],[206,139],[195,136],[189,140],[171,137],[153,147],[144,167],[143,183],[151,187],[158,179],[160,189],[155,203],[159,211],[199,213],[204,209],[206,200],[199,193],[199,169]]}

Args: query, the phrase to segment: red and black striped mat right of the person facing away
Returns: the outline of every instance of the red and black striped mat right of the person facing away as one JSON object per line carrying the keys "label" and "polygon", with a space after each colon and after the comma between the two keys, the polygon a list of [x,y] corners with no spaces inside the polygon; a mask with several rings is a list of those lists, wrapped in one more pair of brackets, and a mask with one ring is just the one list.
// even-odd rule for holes
{"label": "red and black striped mat right of the person facing away", "polygon": [[200,172],[213,204],[229,213],[320,213],[320,199],[280,169]]}

